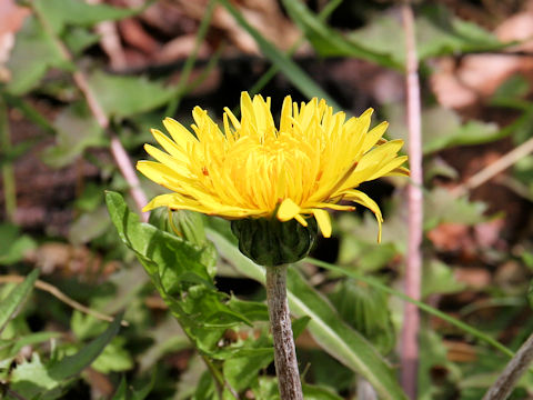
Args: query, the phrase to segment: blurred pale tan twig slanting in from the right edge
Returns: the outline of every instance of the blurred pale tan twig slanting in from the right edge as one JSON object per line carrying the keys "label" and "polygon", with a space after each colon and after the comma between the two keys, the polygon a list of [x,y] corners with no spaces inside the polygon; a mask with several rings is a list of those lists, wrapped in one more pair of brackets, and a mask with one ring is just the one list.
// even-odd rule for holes
{"label": "blurred pale tan twig slanting in from the right edge", "polygon": [[485,183],[487,180],[506,170],[509,167],[513,166],[516,161],[530,154],[531,152],[533,152],[533,138],[530,138],[519,147],[502,156],[496,161],[491,162],[480,172],[470,177],[466,182],[454,188],[452,190],[452,194],[457,198],[466,194],[470,190]]}

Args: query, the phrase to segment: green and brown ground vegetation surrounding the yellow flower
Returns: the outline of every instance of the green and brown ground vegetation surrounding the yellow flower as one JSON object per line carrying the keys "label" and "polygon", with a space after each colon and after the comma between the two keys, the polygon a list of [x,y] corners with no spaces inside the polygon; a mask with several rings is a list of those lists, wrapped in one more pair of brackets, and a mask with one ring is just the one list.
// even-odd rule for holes
{"label": "green and brown ground vegetation surrounding the yellow flower", "polygon": [[[480,399],[533,330],[533,3],[414,12],[418,398]],[[132,162],[165,116],[190,124],[199,104],[221,117],[242,90],[273,110],[288,93],[350,114],[373,107],[389,138],[405,138],[403,49],[393,1],[0,2],[3,396],[275,398],[263,271],[225,221],[174,213],[181,237],[165,211],[140,223],[143,192],[161,188],[137,186]],[[383,243],[369,212],[338,214],[334,238],[290,270],[306,399],[354,399],[369,382],[404,397],[405,184],[363,188],[384,211]],[[512,396],[533,396],[531,373]]]}

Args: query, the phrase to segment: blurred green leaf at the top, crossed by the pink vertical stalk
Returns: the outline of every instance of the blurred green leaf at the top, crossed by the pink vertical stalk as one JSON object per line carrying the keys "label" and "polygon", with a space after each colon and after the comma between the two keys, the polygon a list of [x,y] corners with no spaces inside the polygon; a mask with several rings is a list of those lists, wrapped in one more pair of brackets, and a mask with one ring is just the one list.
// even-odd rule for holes
{"label": "blurred green leaf at the top, crossed by the pink vertical stalk", "polygon": [[[342,36],[321,22],[301,1],[284,0],[283,6],[319,54],[323,57],[353,57],[393,69],[403,69],[405,42],[403,28],[393,16],[379,16],[348,36]],[[416,50],[419,59],[496,50],[505,46],[492,33],[472,22],[453,17],[443,6],[425,7],[416,19]],[[394,38],[394,40],[391,40]]]}

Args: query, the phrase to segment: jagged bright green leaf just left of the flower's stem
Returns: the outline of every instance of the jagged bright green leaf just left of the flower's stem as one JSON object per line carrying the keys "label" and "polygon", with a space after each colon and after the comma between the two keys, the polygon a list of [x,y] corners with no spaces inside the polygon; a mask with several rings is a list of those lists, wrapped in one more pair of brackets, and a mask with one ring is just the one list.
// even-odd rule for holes
{"label": "jagged bright green leaf just left of the flower's stem", "polygon": [[118,193],[108,192],[105,201],[122,241],[135,252],[152,283],[199,349],[213,353],[227,328],[240,322],[251,323],[247,316],[232,310],[224,301],[227,296],[214,288],[211,272],[214,258],[205,260],[204,248],[140,223],[139,217],[128,210]]}

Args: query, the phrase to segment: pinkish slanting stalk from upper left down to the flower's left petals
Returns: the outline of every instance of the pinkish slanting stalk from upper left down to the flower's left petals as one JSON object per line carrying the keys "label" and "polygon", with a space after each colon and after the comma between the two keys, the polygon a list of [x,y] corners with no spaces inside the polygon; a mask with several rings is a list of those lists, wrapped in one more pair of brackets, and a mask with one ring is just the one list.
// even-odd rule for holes
{"label": "pinkish slanting stalk from upper left down to the flower's left petals", "polygon": [[[44,16],[42,16],[42,13],[39,11],[37,7],[33,7],[33,12],[36,13],[37,19],[41,23],[42,29],[47,32],[47,34],[50,37],[54,46],[58,48],[63,60],[70,64],[73,64],[73,59],[72,59],[72,56],[70,54],[69,49],[67,48],[67,46],[64,46],[61,39],[56,34],[53,29],[50,27],[49,21],[44,18]],[[87,104],[89,106],[89,109],[91,110],[91,113],[97,120],[98,124],[100,126],[100,128],[102,128],[102,130],[108,131],[109,118],[105,116],[105,112],[103,111],[102,107],[98,102],[98,99],[92,93],[86,76],[83,74],[83,72],[77,69],[72,73],[72,78],[74,79],[74,82],[80,89],[80,91],[83,93],[83,97],[87,100]],[[139,210],[142,210],[142,208],[147,204],[148,200],[147,200],[147,197],[144,196],[144,192],[141,189],[139,178],[135,174],[135,170],[133,169],[131,160],[128,157],[128,153],[125,152],[119,138],[111,132],[109,132],[109,136],[111,138],[111,154],[113,156],[120,172],[122,173],[125,181],[128,182],[130,194],[133,198],[133,201],[135,202],[137,208]],[[149,217],[148,212],[141,212],[141,219],[143,221],[148,221],[148,217]]]}

